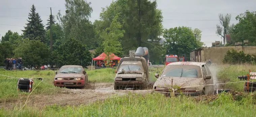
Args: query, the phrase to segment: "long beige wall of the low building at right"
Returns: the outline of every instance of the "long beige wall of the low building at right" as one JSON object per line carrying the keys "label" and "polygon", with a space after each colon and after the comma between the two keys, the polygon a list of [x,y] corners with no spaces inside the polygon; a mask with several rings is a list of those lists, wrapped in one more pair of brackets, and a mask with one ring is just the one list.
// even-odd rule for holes
{"label": "long beige wall of the low building at right", "polygon": [[256,55],[256,46],[203,47],[201,50],[202,62],[207,62],[210,59],[212,63],[222,64],[222,60],[227,53],[227,50],[231,50],[232,48],[238,52],[242,50],[245,54]]}

